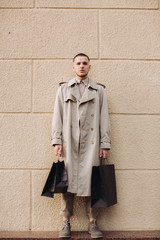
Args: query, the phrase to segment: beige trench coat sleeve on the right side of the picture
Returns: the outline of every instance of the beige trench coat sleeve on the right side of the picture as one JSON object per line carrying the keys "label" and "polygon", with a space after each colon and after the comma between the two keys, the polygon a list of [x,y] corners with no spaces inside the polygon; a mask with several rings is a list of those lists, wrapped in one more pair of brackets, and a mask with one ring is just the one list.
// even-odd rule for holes
{"label": "beige trench coat sleeve on the right side of the picture", "polygon": [[110,122],[108,114],[107,95],[104,88],[101,88],[100,103],[100,148],[110,149]]}

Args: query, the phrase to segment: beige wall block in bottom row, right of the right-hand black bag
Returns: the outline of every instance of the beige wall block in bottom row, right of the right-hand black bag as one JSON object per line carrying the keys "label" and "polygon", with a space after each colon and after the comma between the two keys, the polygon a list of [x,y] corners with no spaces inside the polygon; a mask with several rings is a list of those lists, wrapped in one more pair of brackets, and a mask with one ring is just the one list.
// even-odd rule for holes
{"label": "beige wall block in bottom row, right of the right-hand black bag", "polygon": [[102,230],[159,230],[160,171],[117,171],[118,204],[101,209]]}

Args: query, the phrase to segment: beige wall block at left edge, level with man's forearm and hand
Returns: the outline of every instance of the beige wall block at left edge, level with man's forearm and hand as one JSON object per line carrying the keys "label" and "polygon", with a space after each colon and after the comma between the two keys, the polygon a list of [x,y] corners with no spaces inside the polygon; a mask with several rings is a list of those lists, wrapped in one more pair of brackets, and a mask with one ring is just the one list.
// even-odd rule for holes
{"label": "beige wall block at left edge, level with man's forearm and hand", "polygon": [[0,168],[47,168],[52,115],[0,115]]}

